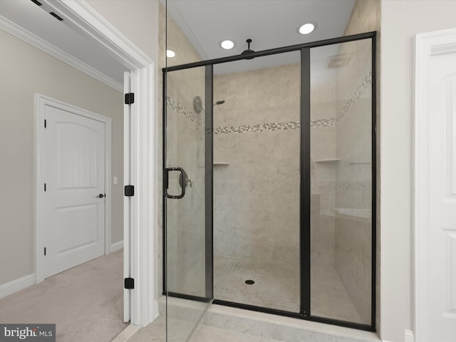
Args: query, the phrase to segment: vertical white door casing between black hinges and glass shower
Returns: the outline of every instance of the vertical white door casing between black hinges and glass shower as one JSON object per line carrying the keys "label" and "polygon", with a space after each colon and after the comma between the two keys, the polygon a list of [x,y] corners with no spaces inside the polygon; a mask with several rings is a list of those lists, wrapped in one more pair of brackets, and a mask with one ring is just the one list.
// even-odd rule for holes
{"label": "vertical white door casing between black hinges and glass shower", "polygon": [[[135,320],[140,318],[141,325],[151,323],[158,316],[154,281],[155,106],[153,94],[155,90],[153,73],[154,66],[151,64],[131,75],[132,91],[138,93],[138,97],[135,96],[135,104],[131,106],[130,177],[131,184],[135,185],[130,217],[133,258],[131,274],[135,283],[138,279],[142,284],[134,294],[132,318]],[[147,94],[150,95],[147,96]]]}

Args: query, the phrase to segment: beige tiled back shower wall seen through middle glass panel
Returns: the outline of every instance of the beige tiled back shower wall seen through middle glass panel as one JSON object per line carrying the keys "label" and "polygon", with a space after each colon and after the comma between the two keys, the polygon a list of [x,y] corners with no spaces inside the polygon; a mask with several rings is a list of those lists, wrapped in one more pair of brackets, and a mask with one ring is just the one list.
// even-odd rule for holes
{"label": "beige tiled back shower wall seen through middle glass panel", "polygon": [[[214,77],[214,257],[299,270],[299,64]],[[238,130],[239,131],[239,130]]]}

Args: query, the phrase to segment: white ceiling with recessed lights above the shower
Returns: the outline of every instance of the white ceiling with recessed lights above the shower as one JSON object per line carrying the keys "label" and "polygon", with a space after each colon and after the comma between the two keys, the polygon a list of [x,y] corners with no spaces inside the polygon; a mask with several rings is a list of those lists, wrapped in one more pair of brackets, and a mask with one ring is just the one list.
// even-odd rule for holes
{"label": "white ceiling with recessed lights above the shower", "polygon": [[[165,3],[165,1],[162,1]],[[356,0],[167,0],[167,11],[180,26],[203,60],[232,56],[250,48],[262,51],[343,36]],[[308,35],[298,33],[305,23],[316,24]],[[235,42],[224,50],[224,39]],[[169,48],[173,46],[168,38]],[[333,54],[337,53],[333,46]],[[325,58],[328,51],[324,53]],[[318,58],[318,57],[317,57]],[[215,66],[215,73],[297,63],[299,53],[256,58]],[[172,61],[170,61],[172,63]]]}

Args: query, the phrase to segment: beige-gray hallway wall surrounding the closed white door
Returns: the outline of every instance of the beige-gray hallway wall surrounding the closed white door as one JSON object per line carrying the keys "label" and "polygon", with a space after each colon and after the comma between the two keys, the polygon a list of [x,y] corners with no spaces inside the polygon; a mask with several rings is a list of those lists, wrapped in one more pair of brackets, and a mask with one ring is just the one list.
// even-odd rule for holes
{"label": "beige-gray hallway wall surrounding the closed white door", "polygon": [[34,93],[113,119],[111,243],[123,239],[123,96],[0,30],[0,284],[35,272]]}

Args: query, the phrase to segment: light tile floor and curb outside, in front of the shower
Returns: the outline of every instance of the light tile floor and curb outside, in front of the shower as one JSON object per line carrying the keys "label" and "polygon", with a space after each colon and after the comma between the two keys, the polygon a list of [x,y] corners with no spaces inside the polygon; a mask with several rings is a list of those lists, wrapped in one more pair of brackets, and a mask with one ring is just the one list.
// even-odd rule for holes
{"label": "light tile floor and curb outside, in front of the shower", "polygon": [[375,333],[368,331],[301,320],[296,323],[294,318],[277,318],[275,321],[276,317],[271,320],[271,315],[267,314],[261,315],[269,317],[259,317],[259,321],[256,321],[253,319],[256,315],[253,311],[247,311],[247,314],[243,313],[239,317],[218,313],[215,319],[213,317],[207,323],[200,323],[189,339],[187,333],[182,333],[187,331],[189,322],[174,319],[170,322],[166,339],[165,317],[160,316],[130,338],[116,338],[113,342],[380,342]]}

